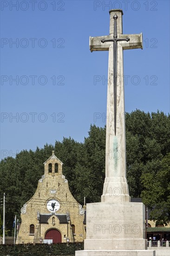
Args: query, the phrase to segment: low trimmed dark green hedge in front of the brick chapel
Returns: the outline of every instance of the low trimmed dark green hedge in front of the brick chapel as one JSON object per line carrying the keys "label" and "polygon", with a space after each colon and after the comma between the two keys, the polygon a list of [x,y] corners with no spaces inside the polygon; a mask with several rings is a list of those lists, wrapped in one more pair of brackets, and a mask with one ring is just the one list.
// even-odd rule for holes
{"label": "low trimmed dark green hedge in front of the brick chapel", "polygon": [[84,243],[1,244],[0,256],[74,256],[76,250],[84,250]]}

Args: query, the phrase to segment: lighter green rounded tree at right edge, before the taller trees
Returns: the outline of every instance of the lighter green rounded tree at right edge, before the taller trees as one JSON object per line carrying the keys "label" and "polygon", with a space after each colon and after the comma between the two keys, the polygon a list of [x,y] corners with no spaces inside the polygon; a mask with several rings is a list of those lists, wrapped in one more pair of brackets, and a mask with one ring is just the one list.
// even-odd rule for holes
{"label": "lighter green rounded tree at right edge, before the taller trees", "polygon": [[170,153],[161,162],[152,161],[145,166],[142,183],[142,198],[151,209],[150,218],[167,224],[170,222]]}

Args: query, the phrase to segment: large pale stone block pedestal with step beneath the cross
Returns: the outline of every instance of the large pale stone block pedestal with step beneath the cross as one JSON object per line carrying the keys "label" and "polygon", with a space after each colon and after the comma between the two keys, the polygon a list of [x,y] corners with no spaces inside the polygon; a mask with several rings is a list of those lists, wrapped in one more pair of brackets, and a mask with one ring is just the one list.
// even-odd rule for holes
{"label": "large pale stone block pedestal with step beneath the cross", "polygon": [[139,202],[87,204],[85,250],[76,256],[154,256],[147,250],[145,208]]}

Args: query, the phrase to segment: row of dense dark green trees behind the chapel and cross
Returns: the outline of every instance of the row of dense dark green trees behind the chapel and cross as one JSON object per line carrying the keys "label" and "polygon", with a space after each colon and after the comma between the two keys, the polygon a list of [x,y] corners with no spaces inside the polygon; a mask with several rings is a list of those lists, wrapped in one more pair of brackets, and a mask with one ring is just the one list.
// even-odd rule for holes
{"label": "row of dense dark green trees behind the chapel and cross", "polygon": [[[126,167],[132,197],[142,197],[151,217],[170,221],[170,115],[163,112],[126,113]],[[79,203],[100,202],[105,179],[105,128],[91,125],[83,143],[63,138],[36,151],[23,150],[16,158],[0,162],[0,197],[7,195],[7,228],[12,229],[15,214],[34,194],[43,162],[55,155],[64,163],[63,174]],[[2,220],[2,207],[0,208]],[[0,224],[2,224],[0,222]],[[1,227],[0,227],[1,228]],[[1,230],[1,229],[0,229]],[[1,231],[0,231],[1,232]]]}

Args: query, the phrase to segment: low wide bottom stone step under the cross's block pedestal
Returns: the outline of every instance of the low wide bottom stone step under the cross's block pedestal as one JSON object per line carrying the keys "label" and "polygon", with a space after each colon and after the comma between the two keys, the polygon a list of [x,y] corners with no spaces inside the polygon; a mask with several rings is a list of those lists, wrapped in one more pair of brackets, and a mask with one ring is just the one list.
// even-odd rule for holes
{"label": "low wide bottom stone step under the cross's block pedestal", "polygon": [[75,256],[155,256],[152,250],[84,250],[76,251]]}

